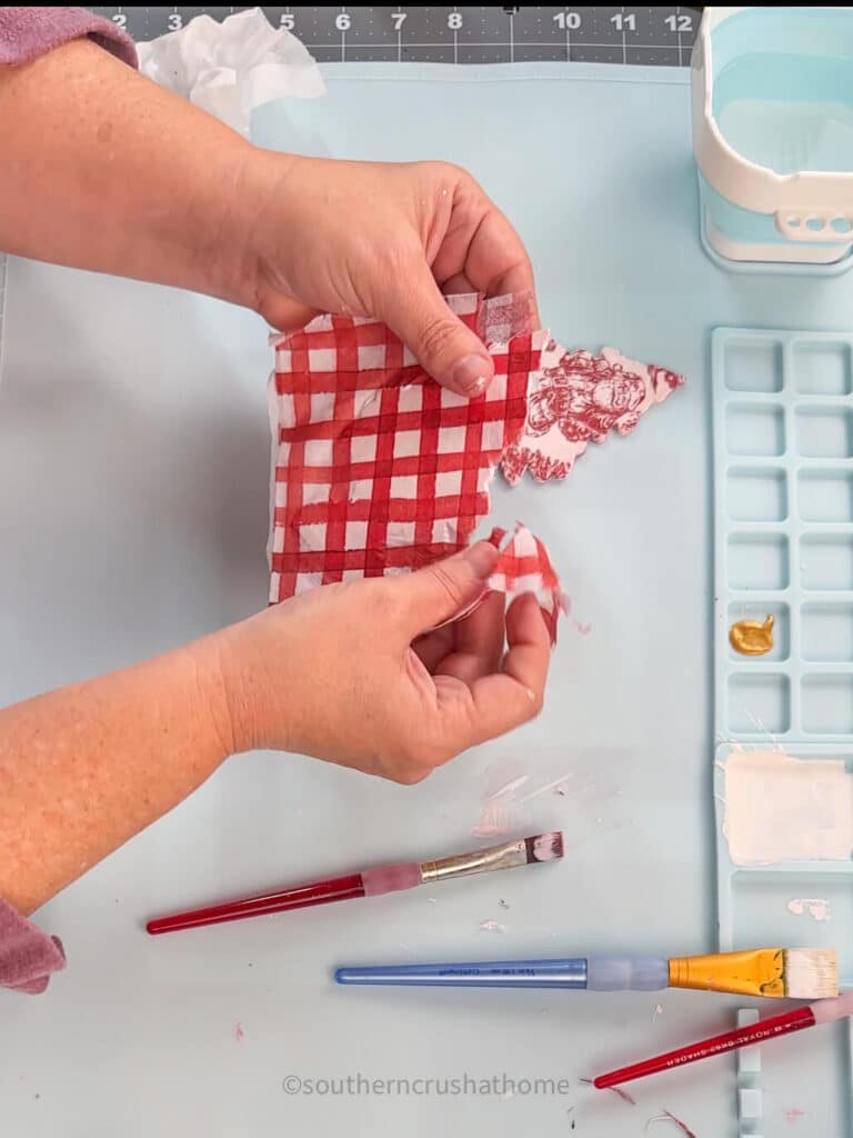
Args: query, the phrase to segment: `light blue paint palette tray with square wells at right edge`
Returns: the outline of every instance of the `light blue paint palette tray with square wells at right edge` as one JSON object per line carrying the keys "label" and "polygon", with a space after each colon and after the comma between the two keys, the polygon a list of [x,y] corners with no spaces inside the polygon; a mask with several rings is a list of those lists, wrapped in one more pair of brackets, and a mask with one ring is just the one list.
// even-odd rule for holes
{"label": "light blue paint palette tray with square wells at right edge", "polygon": [[[850,989],[853,860],[736,865],[726,765],[736,751],[780,749],[853,772],[853,336],[719,328],[711,362],[720,949],[833,947]],[[769,616],[770,651],[732,648],[732,625]],[[817,797],[814,769],[804,792]],[[853,776],[845,785],[853,795]],[[763,1001],[762,1015],[773,1009]],[[848,1022],[805,1045],[779,1040],[763,1063],[750,1050],[750,1070],[738,1062],[744,1138],[762,1133],[768,1102],[782,1102],[794,1079],[812,1088],[814,1110],[833,1104],[821,1133],[853,1133]]]}

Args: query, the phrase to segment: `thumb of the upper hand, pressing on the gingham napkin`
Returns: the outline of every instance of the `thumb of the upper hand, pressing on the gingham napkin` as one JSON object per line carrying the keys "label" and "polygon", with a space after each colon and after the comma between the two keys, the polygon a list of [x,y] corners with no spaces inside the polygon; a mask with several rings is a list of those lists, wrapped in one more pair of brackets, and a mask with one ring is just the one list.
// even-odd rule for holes
{"label": "thumb of the upper hand, pressing on the gingham napkin", "polygon": [[426,262],[408,272],[406,288],[391,282],[382,319],[442,387],[473,398],[495,376],[486,345],[450,312]]}

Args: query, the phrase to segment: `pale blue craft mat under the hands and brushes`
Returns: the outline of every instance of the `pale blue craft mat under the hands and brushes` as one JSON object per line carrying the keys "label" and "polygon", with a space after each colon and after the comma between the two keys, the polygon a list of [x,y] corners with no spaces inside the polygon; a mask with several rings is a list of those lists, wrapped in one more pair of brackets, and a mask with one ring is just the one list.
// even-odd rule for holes
{"label": "pale blue craft mat under the hands and brushes", "polygon": [[[536,724],[413,789],[291,756],[234,759],[45,906],[39,921],[63,935],[69,967],[45,997],[0,996],[2,1130],[510,1136],[568,1133],[575,1120],[579,1138],[621,1138],[643,1135],[665,1107],[698,1138],[726,1138],[736,1132],[728,1061],[638,1085],[637,1107],[575,1085],[732,1025],[734,1000],[345,990],[330,973],[339,963],[713,947],[709,330],[844,328],[851,283],[729,278],[705,261],[685,75],[354,64],[325,75],[328,99],[262,112],[259,137],[336,156],[465,163],[528,241],[562,343],[613,344],[689,382],[632,438],[593,447],[566,484],[496,495],[495,518],[522,518],[548,543],[574,615],[591,626],[588,636],[563,626]],[[166,289],[11,261],[5,340],[0,701],[263,607],[263,323]],[[566,775],[564,797],[532,798],[513,819],[519,832],[564,828],[560,865],[168,938],[142,931],[181,906],[464,849],[485,794],[521,774],[523,793]],[[505,931],[482,931],[488,920]],[[787,1086],[763,1096],[765,1138],[789,1132],[784,1110],[819,1110],[797,1087],[796,1054]],[[566,1078],[572,1089],[282,1089],[289,1074],[502,1072]]]}

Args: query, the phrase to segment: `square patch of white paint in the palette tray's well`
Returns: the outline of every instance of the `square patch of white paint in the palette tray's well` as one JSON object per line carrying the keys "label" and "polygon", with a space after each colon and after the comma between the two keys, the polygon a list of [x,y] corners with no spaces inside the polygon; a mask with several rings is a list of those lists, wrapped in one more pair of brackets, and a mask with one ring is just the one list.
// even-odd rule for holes
{"label": "square patch of white paint in the palette tray's well", "polygon": [[723,832],[735,865],[847,861],[853,778],[840,759],[732,751],[726,761]]}

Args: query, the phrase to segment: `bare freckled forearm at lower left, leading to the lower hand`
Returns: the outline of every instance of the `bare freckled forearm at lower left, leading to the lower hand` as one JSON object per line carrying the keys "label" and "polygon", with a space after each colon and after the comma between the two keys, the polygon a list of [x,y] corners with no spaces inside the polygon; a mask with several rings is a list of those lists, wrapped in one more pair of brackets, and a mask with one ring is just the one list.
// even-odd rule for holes
{"label": "bare freckled forearm at lower left, leading to the lower hand", "polygon": [[234,749],[216,637],[0,710],[0,897],[28,914]]}

